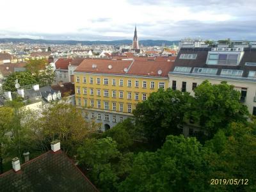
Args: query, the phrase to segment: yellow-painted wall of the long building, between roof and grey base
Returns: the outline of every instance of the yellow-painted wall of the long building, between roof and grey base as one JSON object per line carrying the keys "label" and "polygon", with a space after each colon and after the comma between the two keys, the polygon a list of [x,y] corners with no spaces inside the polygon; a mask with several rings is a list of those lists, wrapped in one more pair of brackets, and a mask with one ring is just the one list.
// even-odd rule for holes
{"label": "yellow-painted wall of the long building, between roof and grey base", "polygon": [[[86,82],[84,82],[84,78]],[[91,82],[90,78],[93,79],[93,82]],[[108,79],[108,84],[104,84],[104,81],[107,81],[106,79]],[[150,93],[157,92],[159,83],[162,86],[164,83],[164,89],[168,87],[168,77],[121,76],[76,72],[74,81],[76,106],[84,106],[111,113],[125,113],[126,115],[131,114],[132,110],[136,108],[136,104],[142,102],[143,99],[147,99]],[[113,81],[115,81],[115,84],[113,84]],[[120,84],[122,81],[123,85],[122,83]],[[152,87],[152,82],[154,82],[154,88]],[[146,85],[146,87],[143,87],[143,85]],[[86,92],[84,89],[86,89]],[[91,94],[91,89],[93,94]],[[108,95],[106,95],[107,93]],[[122,95],[123,97],[121,98],[120,96]],[[98,106],[98,102],[100,102],[100,106]],[[131,107],[131,110],[129,107]]]}

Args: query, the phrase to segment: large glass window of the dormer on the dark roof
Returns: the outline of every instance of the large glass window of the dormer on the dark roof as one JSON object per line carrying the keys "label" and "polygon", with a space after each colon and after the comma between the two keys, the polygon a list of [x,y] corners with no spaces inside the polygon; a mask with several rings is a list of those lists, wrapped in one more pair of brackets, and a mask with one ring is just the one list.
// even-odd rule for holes
{"label": "large glass window of the dormer on the dark roof", "polygon": [[208,65],[237,65],[239,61],[239,54],[230,53],[209,53]]}

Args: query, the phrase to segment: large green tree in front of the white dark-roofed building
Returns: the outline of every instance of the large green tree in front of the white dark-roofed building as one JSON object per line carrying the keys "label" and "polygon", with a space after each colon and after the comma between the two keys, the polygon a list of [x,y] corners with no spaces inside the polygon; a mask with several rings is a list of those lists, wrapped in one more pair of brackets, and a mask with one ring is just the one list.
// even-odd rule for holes
{"label": "large green tree in front of the white dark-roofed building", "polygon": [[240,93],[227,82],[211,84],[204,81],[195,88],[195,99],[186,116],[199,122],[212,138],[220,128],[227,127],[230,122],[246,122],[247,107],[240,102]]}

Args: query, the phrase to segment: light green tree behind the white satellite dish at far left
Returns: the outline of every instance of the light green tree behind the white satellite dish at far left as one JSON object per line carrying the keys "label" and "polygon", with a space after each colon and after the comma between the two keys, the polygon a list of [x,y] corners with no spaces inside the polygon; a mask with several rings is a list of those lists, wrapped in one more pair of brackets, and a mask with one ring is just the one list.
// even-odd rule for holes
{"label": "light green tree behind the white satellite dish at far left", "polygon": [[20,86],[35,84],[36,78],[32,76],[30,72],[14,72],[7,77],[6,81],[3,84],[3,90],[9,92],[15,92],[15,80],[19,80]]}

